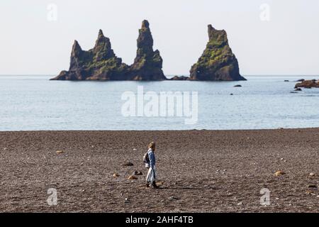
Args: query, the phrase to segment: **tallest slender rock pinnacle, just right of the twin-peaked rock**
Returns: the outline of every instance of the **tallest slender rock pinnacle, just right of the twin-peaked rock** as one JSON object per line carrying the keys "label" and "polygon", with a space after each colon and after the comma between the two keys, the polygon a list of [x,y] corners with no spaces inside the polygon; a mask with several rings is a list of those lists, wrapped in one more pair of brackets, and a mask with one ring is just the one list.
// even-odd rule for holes
{"label": "tallest slender rock pinnacle, just right of the twin-peaked rock", "polygon": [[138,35],[138,51],[133,65],[130,66],[132,80],[165,80],[162,71],[163,60],[159,50],[153,50],[153,38],[150,23],[142,21]]}

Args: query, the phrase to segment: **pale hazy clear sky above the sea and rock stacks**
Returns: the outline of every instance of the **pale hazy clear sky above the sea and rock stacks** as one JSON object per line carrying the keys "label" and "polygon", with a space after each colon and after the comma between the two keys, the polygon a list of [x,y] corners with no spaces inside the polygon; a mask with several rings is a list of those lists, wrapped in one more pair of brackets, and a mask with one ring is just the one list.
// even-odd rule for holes
{"label": "pale hazy clear sky above the sea and rock stacks", "polygon": [[130,65],[150,22],[164,74],[189,74],[208,41],[228,33],[243,75],[318,75],[318,0],[2,0],[0,74],[58,74],[74,40],[94,47],[99,29]]}

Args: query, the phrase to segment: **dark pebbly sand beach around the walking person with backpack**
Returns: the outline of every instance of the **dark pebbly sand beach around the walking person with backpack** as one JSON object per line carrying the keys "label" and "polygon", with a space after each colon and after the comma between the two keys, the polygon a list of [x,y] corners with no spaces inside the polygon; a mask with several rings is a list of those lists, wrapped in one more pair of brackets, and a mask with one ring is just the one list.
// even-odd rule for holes
{"label": "dark pebbly sand beach around the walking person with backpack", "polygon": [[[0,132],[0,211],[319,212],[318,135],[319,128]],[[144,184],[151,140],[160,189]],[[143,175],[128,180],[135,170]],[[47,204],[50,188],[57,206]],[[259,202],[263,188],[269,206]]]}

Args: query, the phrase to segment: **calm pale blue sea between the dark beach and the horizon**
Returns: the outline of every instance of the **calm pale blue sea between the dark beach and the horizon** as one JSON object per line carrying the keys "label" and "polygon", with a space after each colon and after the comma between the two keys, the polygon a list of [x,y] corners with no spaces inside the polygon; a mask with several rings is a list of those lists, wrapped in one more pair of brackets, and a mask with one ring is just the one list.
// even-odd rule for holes
{"label": "calm pale blue sea between the dark beach and the horizon", "polygon": [[[0,131],[319,127],[319,89],[290,93],[297,79],[313,77],[250,76],[246,82],[61,82],[50,77],[0,76]],[[121,96],[137,93],[138,86],[156,94],[198,92],[198,121],[123,116]]]}

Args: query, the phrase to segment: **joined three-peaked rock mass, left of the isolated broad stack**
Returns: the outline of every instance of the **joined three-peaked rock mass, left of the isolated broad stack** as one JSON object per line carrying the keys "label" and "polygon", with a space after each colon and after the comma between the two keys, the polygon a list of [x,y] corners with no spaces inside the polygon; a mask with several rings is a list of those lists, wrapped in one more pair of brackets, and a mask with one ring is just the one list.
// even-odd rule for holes
{"label": "joined three-peaked rock mass, left of the isolated broad stack", "polygon": [[153,51],[150,25],[142,22],[138,37],[138,52],[130,67],[116,57],[109,38],[99,31],[93,49],[82,50],[77,40],[71,52],[69,71],[62,71],[53,80],[163,80],[162,57]]}

